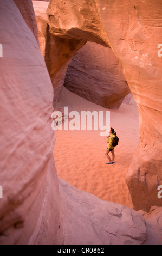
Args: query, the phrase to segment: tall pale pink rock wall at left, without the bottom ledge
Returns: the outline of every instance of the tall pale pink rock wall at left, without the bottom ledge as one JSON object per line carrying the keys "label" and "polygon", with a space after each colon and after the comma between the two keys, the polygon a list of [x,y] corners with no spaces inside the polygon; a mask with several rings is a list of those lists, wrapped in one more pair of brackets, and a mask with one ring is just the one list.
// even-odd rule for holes
{"label": "tall pale pink rock wall at left, without the bottom ledge", "polygon": [[0,243],[53,244],[60,222],[50,118],[53,87],[15,3],[1,0],[0,13]]}

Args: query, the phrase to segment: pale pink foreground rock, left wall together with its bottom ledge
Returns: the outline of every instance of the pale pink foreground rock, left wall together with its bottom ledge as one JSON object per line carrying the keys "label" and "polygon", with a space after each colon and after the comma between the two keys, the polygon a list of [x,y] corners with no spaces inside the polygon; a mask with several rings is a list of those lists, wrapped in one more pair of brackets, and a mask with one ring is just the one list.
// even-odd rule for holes
{"label": "pale pink foreground rock, left wall together with its bottom ledge", "polygon": [[0,24],[0,244],[143,244],[141,214],[58,180],[46,64],[14,1],[0,0]]}

